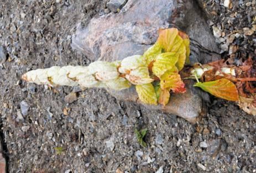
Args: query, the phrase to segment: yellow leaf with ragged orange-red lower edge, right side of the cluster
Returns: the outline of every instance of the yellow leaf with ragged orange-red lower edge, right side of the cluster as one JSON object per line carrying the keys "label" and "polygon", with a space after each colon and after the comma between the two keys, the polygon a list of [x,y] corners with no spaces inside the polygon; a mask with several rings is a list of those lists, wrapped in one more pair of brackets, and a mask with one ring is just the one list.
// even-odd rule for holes
{"label": "yellow leaf with ragged orange-red lower edge, right side of the cluster", "polygon": [[175,93],[186,92],[185,83],[181,80],[180,75],[177,73],[177,68],[165,72],[160,78],[161,89],[172,90]]}

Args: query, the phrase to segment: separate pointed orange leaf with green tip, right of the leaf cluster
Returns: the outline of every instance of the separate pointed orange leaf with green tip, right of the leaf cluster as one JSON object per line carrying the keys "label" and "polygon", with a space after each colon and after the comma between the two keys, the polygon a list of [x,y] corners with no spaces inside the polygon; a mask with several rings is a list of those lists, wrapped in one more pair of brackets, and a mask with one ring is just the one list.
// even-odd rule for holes
{"label": "separate pointed orange leaf with green tip, right of the leaf cluster", "polygon": [[226,78],[211,82],[197,82],[194,86],[211,93],[211,95],[227,99],[228,101],[238,101],[238,91],[236,85]]}

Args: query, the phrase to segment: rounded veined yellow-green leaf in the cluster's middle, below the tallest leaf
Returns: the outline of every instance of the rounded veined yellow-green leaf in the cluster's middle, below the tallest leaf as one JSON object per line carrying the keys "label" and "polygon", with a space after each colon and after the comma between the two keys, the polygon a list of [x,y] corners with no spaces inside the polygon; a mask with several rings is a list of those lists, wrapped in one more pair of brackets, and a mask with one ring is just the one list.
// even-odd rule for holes
{"label": "rounded veined yellow-green leaf in the cluster's middle, below the tallest leaf", "polygon": [[165,71],[172,69],[178,61],[177,54],[163,53],[156,56],[152,71],[154,75],[161,77]]}

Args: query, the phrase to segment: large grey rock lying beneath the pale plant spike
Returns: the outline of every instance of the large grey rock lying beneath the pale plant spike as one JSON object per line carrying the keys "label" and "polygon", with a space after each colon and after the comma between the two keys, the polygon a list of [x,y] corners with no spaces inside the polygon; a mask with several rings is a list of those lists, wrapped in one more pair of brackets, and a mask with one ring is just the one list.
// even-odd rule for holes
{"label": "large grey rock lying beneath the pale plant spike", "polygon": [[[130,55],[142,55],[158,38],[159,28],[176,27],[191,38],[191,62],[206,63],[220,57],[203,13],[193,1],[178,3],[172,0],[129,0],[119,13],[93,18],[87,27],[77,27],[72,36],[72,48],[82,51],[92,61],[122,60]],[[203,46],[201,46],[203,45]],[[186,81],[187,92],[171,95],[165,106],[149,106],[149,109],[176,114],[190,122],[196,122],[204,112],[200,91],[191,88]],[[126,101],[138,101],[134,88],[110,91],[114,97]]]}

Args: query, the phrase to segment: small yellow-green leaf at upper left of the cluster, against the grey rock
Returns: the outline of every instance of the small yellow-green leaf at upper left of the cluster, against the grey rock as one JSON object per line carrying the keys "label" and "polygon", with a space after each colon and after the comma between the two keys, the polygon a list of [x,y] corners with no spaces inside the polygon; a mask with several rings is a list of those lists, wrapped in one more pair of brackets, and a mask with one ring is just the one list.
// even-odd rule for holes
{"label": "small yellow-green leaf at upper left of the cluster, against the grey rock", "polygon": [[156,56],[161,54],[162,48],[159,44],[154,44],[148,50],[145,51],[143,57],[145,57],[147,66],[155,60]]}

